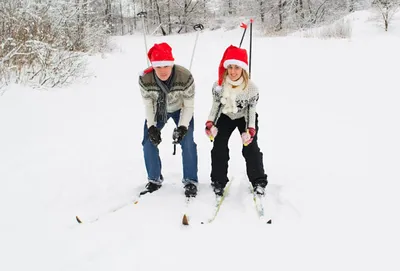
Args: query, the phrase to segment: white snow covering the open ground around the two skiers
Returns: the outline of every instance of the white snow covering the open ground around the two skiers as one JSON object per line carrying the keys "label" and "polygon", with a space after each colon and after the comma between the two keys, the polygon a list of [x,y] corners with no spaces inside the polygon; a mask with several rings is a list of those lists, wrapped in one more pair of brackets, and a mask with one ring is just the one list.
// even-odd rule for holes
{"label": "white snow covering the open ground around the two skiers", "polygon": [[[142,34],[116,37],[116,51],[93,56],[86,84],[12,86],[0,96],[0,270],[399,270],[400,17],[387,33],[370,18],[355,13],[348,40],[253,35],[271,225],[257,218],[235,134],[230,193],[216,220],[200,223],[214,204],[210,91],[239,27],[198,37],[200,185],[188,227],[172,121],[162,131],[162,189],[127,204],[146,183]],[[147,38],[168,42],[189,67],[196,34]]]}

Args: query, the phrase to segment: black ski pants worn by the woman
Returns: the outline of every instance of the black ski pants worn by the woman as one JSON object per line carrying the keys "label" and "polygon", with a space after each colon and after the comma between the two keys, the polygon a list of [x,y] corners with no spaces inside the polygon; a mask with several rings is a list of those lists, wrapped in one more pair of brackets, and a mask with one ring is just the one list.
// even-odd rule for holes
{"label": "black ski pants worn by the woman", "polygon": [[[240,135],[246,131],[246,121],[243,118],[232,120],[227,115],[221,114],[215,124],[218,134],[214,138],[211,150],[211,182],[219,183],[225,187],[228,180],[229,148],[228,142],[232,132],[238,128]],[[257,144],[258,114],[256,115],[256,135],[253,141],[243,145],[242,155],[246,160],[246,170],[249,181],[254,185],[267,185],[267,175],[264,172],[263,154]]]}

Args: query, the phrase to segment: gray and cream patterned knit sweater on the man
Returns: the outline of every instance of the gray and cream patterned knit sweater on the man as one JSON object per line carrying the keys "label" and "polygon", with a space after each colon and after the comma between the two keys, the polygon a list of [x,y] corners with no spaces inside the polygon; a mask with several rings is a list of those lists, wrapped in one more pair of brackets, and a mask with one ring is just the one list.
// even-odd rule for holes
{"label": "gray and cream patterned knit sweater on the man", "polygon": [[[172,113],[181,109],[178,126],[189,127],[193,117],[195,84],[190,71],[182,66],[174,65],[175,73],[170,92],[167,94],[167,112]],[[147,127],[156,125],[155,115],[158,96],[162,92],[154,78],[155,71],[139,77],[140,92],[145,104]]]}

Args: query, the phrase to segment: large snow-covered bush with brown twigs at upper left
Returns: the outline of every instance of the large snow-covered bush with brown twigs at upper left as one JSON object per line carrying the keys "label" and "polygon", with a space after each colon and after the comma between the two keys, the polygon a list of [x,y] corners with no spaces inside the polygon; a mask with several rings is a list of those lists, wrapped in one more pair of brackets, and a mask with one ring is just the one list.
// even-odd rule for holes
{"label": "large snow-covered bush with brown twigs at upper left", "polygon": [[104,15],[94,2],[0,2],[0,86],[71,83],[85,74],[84,57],[108,49]]}

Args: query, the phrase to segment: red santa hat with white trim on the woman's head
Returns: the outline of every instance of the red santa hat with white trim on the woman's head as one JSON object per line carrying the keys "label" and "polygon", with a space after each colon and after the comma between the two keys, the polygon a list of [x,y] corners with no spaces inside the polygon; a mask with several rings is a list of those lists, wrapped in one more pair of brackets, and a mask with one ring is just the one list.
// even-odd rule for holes
{"label": "red santa hat with white trim on the woman's head", "polygon": [[237,65],[245,71],[249,72],[249,61],[247,58],[246,49],[242,49],[233,45],[226,48],[224,55],[222,56],[221,62],[219,63],[218,86],[222,85],[225,70],[228,68],[229,65]]}

